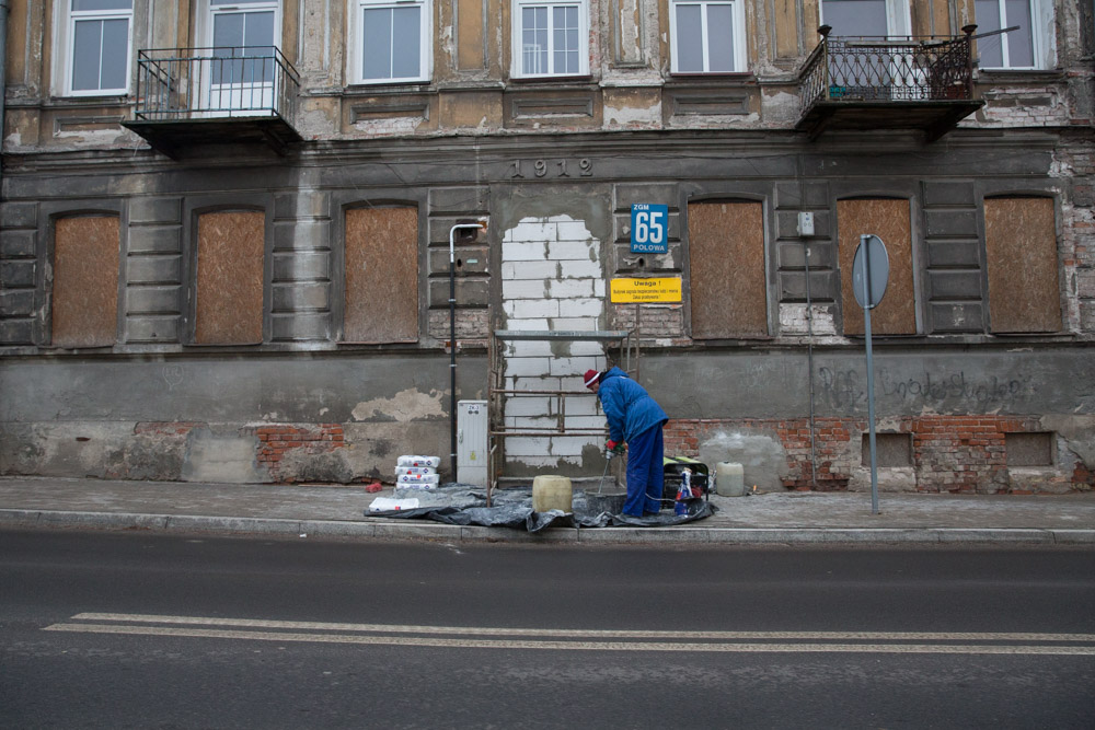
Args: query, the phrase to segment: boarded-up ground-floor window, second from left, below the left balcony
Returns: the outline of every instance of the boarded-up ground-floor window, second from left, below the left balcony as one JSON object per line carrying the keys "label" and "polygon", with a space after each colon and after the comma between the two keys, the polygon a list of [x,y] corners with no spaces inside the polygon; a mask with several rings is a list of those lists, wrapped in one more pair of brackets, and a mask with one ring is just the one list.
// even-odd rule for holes
{"label": "boarded-up ground-floor window, second from left, below the left balcony", "polygon": [[198,217],[198,276],[194,341],[251,345],[263,341],[262,211]]}

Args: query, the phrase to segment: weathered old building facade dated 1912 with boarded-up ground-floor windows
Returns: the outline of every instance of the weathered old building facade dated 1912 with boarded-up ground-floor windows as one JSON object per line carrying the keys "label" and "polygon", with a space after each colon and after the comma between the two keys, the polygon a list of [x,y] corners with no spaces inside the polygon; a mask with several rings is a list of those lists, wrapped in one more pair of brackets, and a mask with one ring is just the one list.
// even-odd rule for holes
{"label": "weathered old building facade dated 1912 with boarded-up ground-floor windows", "polygon": [[875,234],[879,486],[1093,486],[1091,2],[7,5],[2,474],[390,480],[457,396],[599,475],[627,333],[672,453],[860,489]]}

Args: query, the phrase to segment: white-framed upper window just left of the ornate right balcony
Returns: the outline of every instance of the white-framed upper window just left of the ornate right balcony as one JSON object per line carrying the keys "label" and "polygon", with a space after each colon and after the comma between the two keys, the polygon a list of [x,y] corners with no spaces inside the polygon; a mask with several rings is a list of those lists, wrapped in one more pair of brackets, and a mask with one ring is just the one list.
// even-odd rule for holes
{"label": "white-framed upper window just left of the ornate right balcony", "polygon": [[744,0],[672,0],[671,4],[675,73],[746,70]]}

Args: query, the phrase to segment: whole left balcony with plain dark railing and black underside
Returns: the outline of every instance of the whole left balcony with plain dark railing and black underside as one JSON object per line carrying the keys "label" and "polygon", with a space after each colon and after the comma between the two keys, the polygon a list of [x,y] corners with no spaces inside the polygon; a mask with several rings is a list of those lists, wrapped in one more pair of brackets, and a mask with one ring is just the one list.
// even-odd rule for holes
{"label": "whole left balcony with plain dark railing and black underside", "polygon": [[152,149],[258,142],[284,155],[300,77],[273,46],[170,48],[137,53],[137,106],[122,124]]}

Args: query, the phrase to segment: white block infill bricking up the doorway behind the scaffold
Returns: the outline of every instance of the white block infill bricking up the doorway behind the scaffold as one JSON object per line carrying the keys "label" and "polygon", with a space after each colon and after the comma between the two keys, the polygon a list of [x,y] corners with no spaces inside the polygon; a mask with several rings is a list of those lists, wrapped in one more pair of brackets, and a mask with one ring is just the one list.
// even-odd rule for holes
{"label": "white block infill bricking up the doorway behind the scaffold", "polygon": [[[606,275],[601,242],[585,221],[568,216],[527,218],[503,235],[502,296],[507,329],[589,332],[604,326]],[[583,374],[606,364],[601,343],[515,340],[506,345],[506,387],[580,392]],[[509,397],[504,422],[508,428],[551,428],[548,417],[558,401],[545,396]],[[566,428],[604,426],[596,398],[566,398]],[[600,447],[591,437],[509,437],[506,457],[533,468],[551,468],[561,461],[578,464],[583,449]]]}

